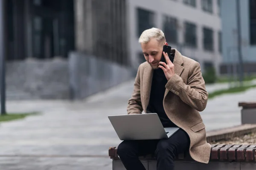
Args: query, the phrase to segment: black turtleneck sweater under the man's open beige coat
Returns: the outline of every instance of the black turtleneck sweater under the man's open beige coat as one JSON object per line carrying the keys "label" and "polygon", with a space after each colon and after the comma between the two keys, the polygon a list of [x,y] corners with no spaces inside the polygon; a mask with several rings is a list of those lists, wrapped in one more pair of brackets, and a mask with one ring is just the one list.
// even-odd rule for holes
{"label": "black turtleneck sweater under the man's open beige coat", "polygon": [[166,90],[165,88],[166,83],[167,83],[167,79],[164,75],[163,70],[161,68],[154,70],[148,110],[151,113],[158,114],[163,124],[163,127],[177,127],[167,117],[163,108],[163,97]]}

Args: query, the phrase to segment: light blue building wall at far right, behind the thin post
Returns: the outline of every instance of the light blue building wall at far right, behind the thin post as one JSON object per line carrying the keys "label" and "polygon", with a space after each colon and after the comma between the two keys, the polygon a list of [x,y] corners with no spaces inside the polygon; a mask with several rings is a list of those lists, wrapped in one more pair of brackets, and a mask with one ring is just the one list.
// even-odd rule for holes
{"label": "light blue building wall at far right, behind the thin post", "polygon": [[[221,6],[223,62],[238,62],[236,0],[221,0]],[[244,62],[256,62],[256,46],[250,45],[249,12],[249,0],[240,0],[242,57]],[[228,54],[230,47],[233,47],[233,51]]]}

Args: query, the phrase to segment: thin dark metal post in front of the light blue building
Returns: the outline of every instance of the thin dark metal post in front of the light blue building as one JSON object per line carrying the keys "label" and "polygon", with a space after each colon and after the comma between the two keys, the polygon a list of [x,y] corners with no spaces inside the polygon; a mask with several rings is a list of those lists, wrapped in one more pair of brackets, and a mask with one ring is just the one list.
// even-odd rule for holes
{"label": "thin dark metal post in front of the light blue building", "polygon": [[240,5],[239,0],[236,0],[236,19],[237,19],[237,50],[238,50],[238,57],[239,57],[239,80],[240,86],[243,85],[243,78],[244,78],[244,67],[243,67],[243,60],[241,54],[241,23],[240,23]]}

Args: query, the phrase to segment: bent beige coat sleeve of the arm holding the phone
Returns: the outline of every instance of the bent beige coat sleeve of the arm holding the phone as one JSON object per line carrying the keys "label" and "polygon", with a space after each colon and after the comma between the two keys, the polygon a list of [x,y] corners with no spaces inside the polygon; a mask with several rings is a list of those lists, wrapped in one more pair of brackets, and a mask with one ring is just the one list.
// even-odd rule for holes
{"label": "bent beige coat sleeve of the arm holding the phone", "polygon": [[189,70],[187,84],[183,82],[183,79],[180,76],[175,74],[166,83],[166,88],[180,96],[180,99],[183,102],[190,105],[197,111],[203,111],[206,108],[208,92],[206,91],[201,67],[198,62],[192,64]]}

